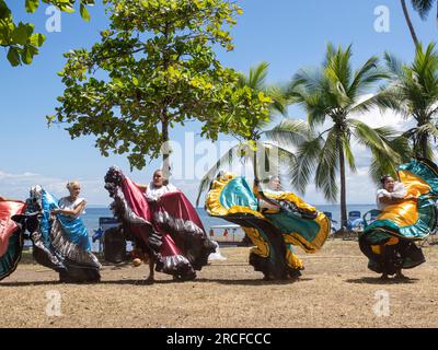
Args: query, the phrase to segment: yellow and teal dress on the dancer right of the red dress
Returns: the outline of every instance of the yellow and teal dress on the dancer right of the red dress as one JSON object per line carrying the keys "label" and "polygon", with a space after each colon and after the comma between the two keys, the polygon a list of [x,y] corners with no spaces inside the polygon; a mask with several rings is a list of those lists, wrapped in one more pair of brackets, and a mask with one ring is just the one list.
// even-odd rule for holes
{"label": "yellow and teal dress on the dancer right of the red dress", "polygon": [[244,177],[231,174],[212,183],[206,209],[243,228],[255,245],[250,264],[270,279],[299,276],[303,264],[293,246],[315,253],[331,231],[330,220],[296,195],[252,189]]}

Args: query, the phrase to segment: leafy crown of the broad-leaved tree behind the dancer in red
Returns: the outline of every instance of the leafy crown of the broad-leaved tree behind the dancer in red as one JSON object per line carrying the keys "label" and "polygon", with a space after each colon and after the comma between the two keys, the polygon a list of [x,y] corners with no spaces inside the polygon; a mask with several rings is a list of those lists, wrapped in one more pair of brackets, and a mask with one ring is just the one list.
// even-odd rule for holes
{"label": "leafy crown of the broad-leaved tree behind the dancer in red", "polygon": [[218,60],[214,45],[233,49],[229,26],[241,9],[222,0],[105,0],[111,27],[90,50],[77,49],[60,73],[61,105],[49,121],[67,122],[72,138],[96,137],[103,155],[127,153],[134,167],[145,156],[171,151],[170,129],[188,119],[216,140],[235,130],[251,136],[268,118],[268,98],[240,86],[240,75]]}

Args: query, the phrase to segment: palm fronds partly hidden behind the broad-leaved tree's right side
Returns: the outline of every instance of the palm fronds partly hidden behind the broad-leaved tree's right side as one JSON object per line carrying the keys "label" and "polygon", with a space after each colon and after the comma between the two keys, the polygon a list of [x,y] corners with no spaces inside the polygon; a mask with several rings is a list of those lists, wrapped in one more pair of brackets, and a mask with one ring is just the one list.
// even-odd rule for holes
{"label": "palm fronds partly hidden behind the broad-leaved tree's right side", "polygon": [[[255,94],[263,93],[272,100],[270,110],[272,117],[275,115],[287,114],[287,105],[285,93],[281,88],[266,84],[266,77],[268,74],[267,62],[262,62],[250,69],[250,74],[241,74],[239,88],[247,86],[254,91]],[[254,126],[251,137],[241,141],[237,145],[228,150],[203,177],[200,180],[196,206],[199,205],[199,199],[203,192],[207,191],[212,179],[216,178],[218,172],[227,166],[230,166],[235,160],[240,160],[243,164],[252,164],[254,179],[258,179],[260,174],[264,172],[275,173],[279,172],[277,168],[281,163],[291,164],[295,162],[293,153],[287,148],[275,144],[274,142],[261,141],[263,136],[267,132],[264,129],[268,126],[270,120],[263,122],[260,121]],[[293,139],[302,141],[306,139],[307,127],[303,121],[297,121],[290,128],[290,133]],[[278,155],[274,159],[272,155]],[[260,161],[263,159],[263,162]]]}

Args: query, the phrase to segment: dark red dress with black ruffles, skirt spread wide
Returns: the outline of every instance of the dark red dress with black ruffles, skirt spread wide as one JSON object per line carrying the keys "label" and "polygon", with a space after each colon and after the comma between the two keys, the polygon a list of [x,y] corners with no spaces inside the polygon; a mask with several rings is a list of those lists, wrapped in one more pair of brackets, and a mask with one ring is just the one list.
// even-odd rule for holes
{"label": "dark red dress with black ruffles, skirt spread wide", "polygon": [[126,236],[152,255],[157,271],[182,280],[196,277],[215,252],[204,225],[185,195],[172,185],[145,194],[116,167],[105,176],[105,188],[114,198],[112,208]]}

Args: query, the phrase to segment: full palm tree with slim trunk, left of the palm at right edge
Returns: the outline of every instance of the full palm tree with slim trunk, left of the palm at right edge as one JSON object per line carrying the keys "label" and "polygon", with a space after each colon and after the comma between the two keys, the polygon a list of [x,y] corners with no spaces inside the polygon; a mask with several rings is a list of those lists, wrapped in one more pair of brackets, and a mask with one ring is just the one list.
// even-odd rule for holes
{"label": "full palm tree with slim trunk, left of the palm at right edge", "polygon": [[[387,78],[388,73],[379,68],[377,57],[371,57],[353,72],[351,46],[336,49],[330,44],[323,66],[313,70],[300,70],[289,86],[290,102],[306,108],[311,130],[309,138],[297,149],[291,182],[297,189],[304,192],[314,173],[316,188],[323,190],[327,200],[336,201],[338,173],[342,226],[347,225],[346,166],[351,171],[356,170],[351,151],[353,139],[371,150],[373,163],[370,173],[373,178],[382,172],[394,173],[394,164],[401,162],[394,148],[408,150],[407,142],[397,138],[392,128],[373,129],[351,118],[351,115],[369,112],[384,102],[380,94],[364,94]],[[284,120],[268,132],[268,138],[280,145],[296,143],[296,138],[293,142],[289,138],[289,125],[290,121]],[[325,130],[318,132],[316,127],[320,126],[326,126]]]}

